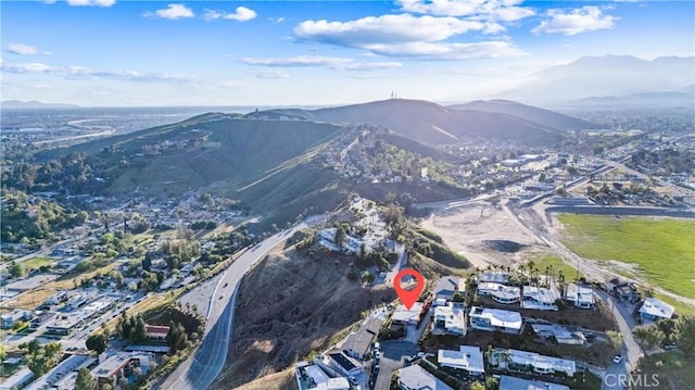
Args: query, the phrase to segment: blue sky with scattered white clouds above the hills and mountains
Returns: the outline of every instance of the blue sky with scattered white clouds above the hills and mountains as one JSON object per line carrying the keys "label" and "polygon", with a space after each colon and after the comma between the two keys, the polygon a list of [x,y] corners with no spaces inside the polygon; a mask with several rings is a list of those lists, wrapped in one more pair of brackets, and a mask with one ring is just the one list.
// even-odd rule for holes
{"label": "blue sky with scattered white clouds above the hills and mountains", "polygon": [[489,98],[583,55],[690,56],[692,1],[2,1],[1,96],[80,105]]}

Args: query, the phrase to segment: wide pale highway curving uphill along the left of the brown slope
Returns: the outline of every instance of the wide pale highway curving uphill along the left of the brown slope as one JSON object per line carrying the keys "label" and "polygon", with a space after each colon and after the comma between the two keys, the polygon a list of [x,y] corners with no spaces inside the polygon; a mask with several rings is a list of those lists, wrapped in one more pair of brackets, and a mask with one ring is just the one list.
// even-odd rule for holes
{"label": "wide pale highway curving uphill along the left of the brown slope", "polygon": [[[318,222],[316,218],[313,221]],[[155,383],[154,389],[201,390],[210,388],[227,361],[239,282],[273,248],[292,237],[295,231],[307,227],[307,223],[311,223],[308,218],[289,230],[270,236],[239,256],[219,276],[210,279],[188,293],[204,294],[211,300],[203,341],[192,356],[181,363],[163,382]],[[210,294],[211,289],[212,295]]]}

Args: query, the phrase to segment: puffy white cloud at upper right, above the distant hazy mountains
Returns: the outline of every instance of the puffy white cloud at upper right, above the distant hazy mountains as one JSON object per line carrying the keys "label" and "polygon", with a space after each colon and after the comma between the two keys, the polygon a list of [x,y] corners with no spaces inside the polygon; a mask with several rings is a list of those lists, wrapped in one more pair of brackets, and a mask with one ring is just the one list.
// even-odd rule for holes
{"label": "puffy white cloud at upper right, above the distant hazy mountains", "polygon": [[564,34],[577,35],[585,32],[614,28],[619,17],[606,15],[602,9],[594,5],[585,5],[569,12],[561,10],[549,10],[547,16],[551,18],[542,21],[533,28],[533,34]]}

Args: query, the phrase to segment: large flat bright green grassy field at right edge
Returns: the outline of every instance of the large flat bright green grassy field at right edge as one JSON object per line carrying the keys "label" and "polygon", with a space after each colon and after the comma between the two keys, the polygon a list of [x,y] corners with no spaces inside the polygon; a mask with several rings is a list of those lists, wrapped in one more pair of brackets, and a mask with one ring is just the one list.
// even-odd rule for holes
{"label": "large flat bright green grassy field at right edge", "polygon": [[565,244],[594,260],[637,264],[641,276],[695,298],[695,221],[563,214]]}

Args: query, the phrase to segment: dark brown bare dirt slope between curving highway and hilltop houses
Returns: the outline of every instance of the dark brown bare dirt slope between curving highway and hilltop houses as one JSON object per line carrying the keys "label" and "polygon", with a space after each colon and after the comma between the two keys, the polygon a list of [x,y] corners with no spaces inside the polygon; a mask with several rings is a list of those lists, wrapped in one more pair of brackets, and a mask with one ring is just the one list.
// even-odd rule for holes
{"label": "dark brown bare dirt slope between curving highway and hilltop houses", "polygon": [[328,348],[363,311],[395,298],[393,289],[349,280],[350,262],[323,251],[312,259],[289,249],[258,263],[240,286],[229,358],[212,389],[283,370],[312,350]]}

